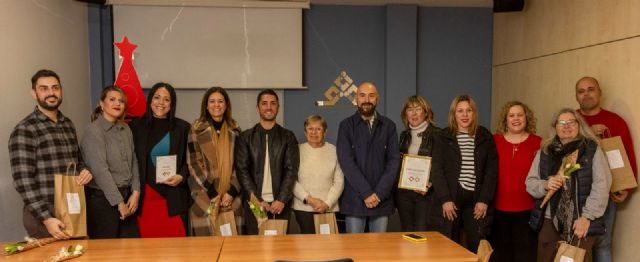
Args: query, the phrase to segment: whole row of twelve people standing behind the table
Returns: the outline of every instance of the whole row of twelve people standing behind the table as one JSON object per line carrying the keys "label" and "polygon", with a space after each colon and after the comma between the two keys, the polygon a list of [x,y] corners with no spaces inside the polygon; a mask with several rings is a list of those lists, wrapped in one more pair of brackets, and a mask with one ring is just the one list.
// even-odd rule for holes
{"label": "whole row of twelve people standing behind the table", "polygon": [[[25,228],[34,237],[68,237],[52,215],[53,174],[76,162],[91,238],[209,235],[212,205],[234,211],[246,233],[257,234],[248,203],[255,196],[269,218],[289,219],[293,210],[302,233],[314,233],[313,215],[325,212],[344,214],[349,233],[367,225],[384,232],[397,208],[403,231],[437,230],[459,243],[466,239],[471,251],[488,239],[495,261],[536,261],[538,242],[543,261],[552,261],[560,239],[583,239],[586,249],[596,243],[594,257],[607,261],[615,203],[628,192],[609,194],[599,138],[621,135],[636,173],[628,128],[600,108],[601,90],[590,77],[576,84],[581,109],[560,110],[551,123],[555,133],[544,142],[527,105],[507,103],[492,134],[479,125],[468,95],[454,98],[443,129],[423,97],[409,97],[398,137],[394,122],[376,111],[376,86],[364,82],[358,110],[340,122],[335,146],[325,141],[327,122],[318,115],[305,120],[307,142],[299,144],[276,122],[280,103],[270,89],[259,93],[260,121],[250,129],[240,129],[220,87],[205,92],[191,125],[175,116],[177,97],[168,83],[152,87],[146,113],[128,125],[124,92],[105,87],[78,143],[73,123],[58,110],[58,75],[41,70],[31,82],[38,105],[16,126],[9,151]],[[581,168],[569,179],[554,176],[576,150]],[[407,154],[431,157],[423,190],[398,188]],[[157,157],[169,155],[176,156],[176,174],[158,182]],[[550,190],[558,192],[541,206]]]}

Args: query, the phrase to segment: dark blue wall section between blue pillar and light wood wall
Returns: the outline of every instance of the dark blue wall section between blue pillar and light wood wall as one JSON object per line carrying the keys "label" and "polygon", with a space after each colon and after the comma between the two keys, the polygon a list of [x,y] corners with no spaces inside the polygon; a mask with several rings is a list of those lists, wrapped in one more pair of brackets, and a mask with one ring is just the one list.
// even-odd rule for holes
{"label": "dark blue wall section between blue pillar and light wood wall", "polygon": [[418,94],[433,107],[440,127],[451,100],[469,94],[480,124],[491,121],[491,8],[423,7],[419,12]]}

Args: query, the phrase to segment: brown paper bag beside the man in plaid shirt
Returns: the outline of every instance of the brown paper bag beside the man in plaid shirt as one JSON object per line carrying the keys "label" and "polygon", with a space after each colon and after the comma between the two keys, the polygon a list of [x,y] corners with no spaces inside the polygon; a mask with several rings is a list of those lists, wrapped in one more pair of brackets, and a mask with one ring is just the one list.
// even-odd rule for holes
{"label": "brown paper bag beside the man in plaid shirt", "polygon": [[86,237],[87,204],[84,186],[76,183],[76,163],[67,165],[66,174],[56,174],[54,183],[55,216],[64,223],[64,232],[72,238]]}

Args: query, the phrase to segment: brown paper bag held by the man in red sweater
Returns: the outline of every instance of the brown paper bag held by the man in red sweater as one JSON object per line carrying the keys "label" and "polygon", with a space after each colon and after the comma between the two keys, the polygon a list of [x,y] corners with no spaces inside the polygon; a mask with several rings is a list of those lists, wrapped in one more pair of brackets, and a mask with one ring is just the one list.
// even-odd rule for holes
{"label": "brown paper bag held by the man in red sweater", "polygon": [[600,146],[607,156],[611,169],[611,192],[638,187],[622,138],[620,136],[604,138],[600,140]]}

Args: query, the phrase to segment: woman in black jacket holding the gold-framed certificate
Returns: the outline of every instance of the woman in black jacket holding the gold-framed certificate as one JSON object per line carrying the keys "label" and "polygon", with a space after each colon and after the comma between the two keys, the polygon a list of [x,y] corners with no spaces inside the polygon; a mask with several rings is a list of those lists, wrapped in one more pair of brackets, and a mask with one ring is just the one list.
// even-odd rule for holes
{"label": "woman in black jacket holding the gold-framed certificate", "polygon": [[[409,159],[415,159],[416,162],[430,161],[430,158],[418,156],[431,157],[435,137],[441,130],[433,121],[431,106],[421,96],[410,96],[404,103],[400,116],[406,127],[400,134],[403,169],[408,167]],[[430,163],[422,166],[429,167]],[[428,223],[433,198],[433,193],[429,190],[429,170],[420,173],[409,177],[410,174],[402,170],[400,179],[405,183],[400,183],[396,191],[396,206],[402,231],[405,232],[432,230]],[[421,179],[424,181],[420,181]]]}

